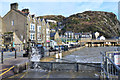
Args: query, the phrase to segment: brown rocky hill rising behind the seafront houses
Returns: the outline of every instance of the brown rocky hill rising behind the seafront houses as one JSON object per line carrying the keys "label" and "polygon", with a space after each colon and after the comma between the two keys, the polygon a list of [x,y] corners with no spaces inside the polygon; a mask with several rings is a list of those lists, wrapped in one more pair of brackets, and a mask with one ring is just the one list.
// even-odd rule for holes
{"label": "brown rocky hill rising behind the seafront houses", "polygon": [[105,37],[114,37],[120,35],[120,23],[115,14],[102,11],[85,11],[69,17],[64,16],[46,16],[44,18],[56,20],[64,25],[62,33],[65,31],[79,32],[100,32]]}

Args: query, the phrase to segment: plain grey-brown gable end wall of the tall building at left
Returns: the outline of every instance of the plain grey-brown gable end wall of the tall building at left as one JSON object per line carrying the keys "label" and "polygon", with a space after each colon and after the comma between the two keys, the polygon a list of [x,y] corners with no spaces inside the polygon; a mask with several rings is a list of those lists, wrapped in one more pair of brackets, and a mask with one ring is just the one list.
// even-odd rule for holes
{"label": "plain grey-brown gable end wall of the tall building at left", "polygon": [[[12,25],[13,20],[14,25]],[[19,12],[11,10],[3,17],[4,32],[15,31],[16,35],[21,41],[23,41],[24,38],[26,38],[26,28],[27,18],[26,16],[20,14]]]}

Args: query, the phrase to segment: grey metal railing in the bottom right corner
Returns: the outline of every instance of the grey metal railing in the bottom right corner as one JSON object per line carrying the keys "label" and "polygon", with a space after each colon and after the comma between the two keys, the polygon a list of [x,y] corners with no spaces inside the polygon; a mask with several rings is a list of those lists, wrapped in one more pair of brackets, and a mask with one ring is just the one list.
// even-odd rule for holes
{"label": "grey metal railing in the bottom right corner", "polygon": [[114,63],[114,60],[101,52],[101,76],[103,80],[120,80],[120,67]]}

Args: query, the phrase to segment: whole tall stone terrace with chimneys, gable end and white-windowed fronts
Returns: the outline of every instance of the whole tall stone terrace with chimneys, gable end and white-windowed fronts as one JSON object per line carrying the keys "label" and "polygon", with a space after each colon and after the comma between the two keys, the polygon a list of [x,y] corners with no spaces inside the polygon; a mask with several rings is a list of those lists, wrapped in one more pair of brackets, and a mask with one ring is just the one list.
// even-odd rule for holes
{"label": "whole tall stone terrace with chimneys, gable end and white-windowed fronts", "polygon": [[[49,24],[44,19],[38,19],[35,15],[29,13],[29,9],[18,10],[18,3],[12,3],[10,11],[3,17],[4,33],[15,33],[19,39],[17,40],[22,42],[22,44],[20,42],[19,46],[18,43],[14,43],[17,47],[22,47],[24,44],[24,48],[26,48],[29,45],[34,46],[38,43],[47,46],[47,43],[50,41]],[[39,30],[40,27],[41,30]]]}

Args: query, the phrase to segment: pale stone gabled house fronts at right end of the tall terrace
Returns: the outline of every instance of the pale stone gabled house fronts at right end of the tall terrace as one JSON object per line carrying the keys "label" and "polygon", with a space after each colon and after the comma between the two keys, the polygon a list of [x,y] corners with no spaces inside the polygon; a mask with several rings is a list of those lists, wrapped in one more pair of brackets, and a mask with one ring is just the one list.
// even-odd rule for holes
{"label": "pale stone gabled house fronts at right end of the tall terrace", "polygon": [[37,18],[37,43],[46,47],[50,45],[50,25],[39,17]]}

